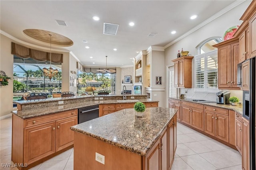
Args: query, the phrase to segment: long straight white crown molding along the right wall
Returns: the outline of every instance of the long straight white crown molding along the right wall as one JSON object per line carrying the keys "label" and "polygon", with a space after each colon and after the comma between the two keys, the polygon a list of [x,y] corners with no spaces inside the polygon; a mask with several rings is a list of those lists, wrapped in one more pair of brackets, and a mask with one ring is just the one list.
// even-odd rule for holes
{"label": "long straight white crown molding along the right wall", "polygon": [[214,14],[213,16],[211,16],[210,18],[208,18],[207,20],[201,22],[200,24],[198,24],[196,27],[190,29],[190,31],[184,33],[183,35],[181,35],[180,37],[174,39],[172,42],[168,43],[167,45],[164,46],[164,49],[170,47],[171,45],[173,45],[174,43],[180,41],[181,39],[185,38],[186,36],[190,35],[191,33],[193,33],[194,31],[200,29],[201,27],[203,27],[204,25],[210,23],[211,21],[215,20],[216,18],[222,16],[223,14],[225,14],[226,12],[232,10],[233,8],[235,8],[236,6],[242,4],[243,2],[245,2],[246,0],[236,0],[235,2],[233,2],[232,4],[230,4],[229,6],[227,6],[226,8],[223,8],[222,10],[220,10],[219,12],[217,12],[216,14]]}

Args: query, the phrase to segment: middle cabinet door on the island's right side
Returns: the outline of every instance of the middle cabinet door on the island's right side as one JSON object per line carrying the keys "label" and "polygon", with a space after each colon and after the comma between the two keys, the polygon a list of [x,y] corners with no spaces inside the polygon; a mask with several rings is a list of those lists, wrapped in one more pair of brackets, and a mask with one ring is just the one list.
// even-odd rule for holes
{"label": "middle cabinet door on the island's right side", "polygon": [[160,139],[161,143],[161,169],[167,170],[168,167],[168,148],[167,148],[167,129],[164,131],[163,134],[161,134],[162,137]]}

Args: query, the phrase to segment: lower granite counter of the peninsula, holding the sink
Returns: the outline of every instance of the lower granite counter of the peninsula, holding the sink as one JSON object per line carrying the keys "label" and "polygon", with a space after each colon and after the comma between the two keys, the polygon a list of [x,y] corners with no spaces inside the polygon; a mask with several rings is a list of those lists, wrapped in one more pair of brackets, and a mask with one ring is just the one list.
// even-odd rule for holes
{"label": "lower granite counter of the peninsula, holding the sink", "polygon": [[[140,102],[158,102],[158,101],[152,101],[150,99],[139,99],[139,100]],[[49,115],[49,114],[58,113],[62,111],[79,109],[82,107],[95,106],[98,104],[123,104],[123,103],[134,103],[134,102],[132,100],[128,100],[126,102],[117,102],[117,100],[92,100],[92,101],[78,102],[78,103],[72,103],[72,104],[61,104],[61,105],[50,106],[50,107],[18,110],[18,111],[12,111],[12,113],[22,119],[28,119],[32,117]]]}

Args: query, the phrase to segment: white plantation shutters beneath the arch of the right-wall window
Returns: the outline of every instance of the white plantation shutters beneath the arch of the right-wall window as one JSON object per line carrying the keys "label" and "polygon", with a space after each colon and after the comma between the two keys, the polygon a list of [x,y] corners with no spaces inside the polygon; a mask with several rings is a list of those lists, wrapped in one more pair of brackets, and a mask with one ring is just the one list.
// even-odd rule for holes
{"label": "white plantation shutters beneath the arch of the right-wall window", "polygon": [[218,91],[217,50],[194,57],[195,91]]}

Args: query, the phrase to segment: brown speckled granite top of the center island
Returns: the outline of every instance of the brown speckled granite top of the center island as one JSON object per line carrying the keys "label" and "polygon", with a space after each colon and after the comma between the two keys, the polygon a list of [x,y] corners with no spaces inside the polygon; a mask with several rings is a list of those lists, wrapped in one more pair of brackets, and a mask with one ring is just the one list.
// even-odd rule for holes
{"label": "brown speckled granite top of the center island", "polygon": [[147,107],[143,116],[137,117],[133,108],[123,109],[70,129],[145,156],[176,111],[165,107]]}

